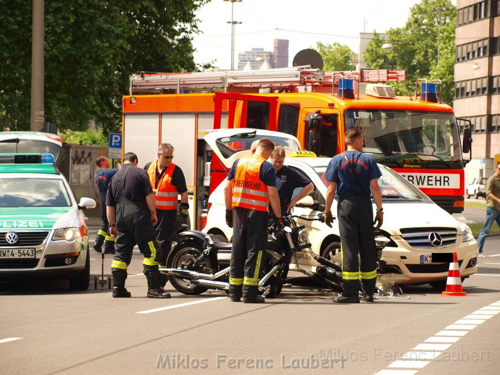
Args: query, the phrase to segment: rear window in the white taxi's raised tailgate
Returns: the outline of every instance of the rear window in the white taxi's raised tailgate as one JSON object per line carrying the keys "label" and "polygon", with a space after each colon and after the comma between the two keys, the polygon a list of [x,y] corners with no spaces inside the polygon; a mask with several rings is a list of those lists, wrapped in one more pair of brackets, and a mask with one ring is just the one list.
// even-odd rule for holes
{"label": "rear window in the white taxi's raised tailgate", "polygon": [[256,139],[269,138],[274,146],[283,146],[284,149],[298,151],[298,144],[293,139],[280,136],[259,135],[254,133],[243,133],[235,136],[224,136],[215,141],[217,148],[224,157],[230,157],[232,154],[250,149],[252,142]]}

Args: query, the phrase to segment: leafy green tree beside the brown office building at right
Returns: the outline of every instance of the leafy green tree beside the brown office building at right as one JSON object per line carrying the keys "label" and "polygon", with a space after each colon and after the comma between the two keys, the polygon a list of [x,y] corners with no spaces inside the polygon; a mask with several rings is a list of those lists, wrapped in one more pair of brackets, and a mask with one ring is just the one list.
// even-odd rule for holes
{"label": "leafy green tree beside the brown office building at right", "polygon": [[[446,8],[436,11],[434,8]],[[367,67],[405,69],[407,80],[390,83],[399,95],[415,93],[418,78],[441,79],[443,101],[452,104],[454,96],[456,8],[449,0],[421,0],[410,9],[403,27],[390,28],[386,39],[394,48],[383,51],[385,43],[374,32],[364,52]],[[439,46],[439,61],[437,48]]]}

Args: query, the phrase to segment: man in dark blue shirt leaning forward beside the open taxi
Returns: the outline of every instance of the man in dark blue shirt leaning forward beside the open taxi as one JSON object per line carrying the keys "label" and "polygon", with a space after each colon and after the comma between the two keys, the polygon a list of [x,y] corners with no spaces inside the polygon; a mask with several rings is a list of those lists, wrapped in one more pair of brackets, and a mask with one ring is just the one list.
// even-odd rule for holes
{"label": "man in dark blue shirt leaning forward beside the open taxi", "polygon": [[[291,213],[295,204],[314,188],[314,184],[304,175],[293,168],[283,165],[285,150],[283,146],[276,146],[271,152],[271,162],[276,171],[276,188],[281,205],[281,216]],[[297,187],[302,189],[292,198]]]}

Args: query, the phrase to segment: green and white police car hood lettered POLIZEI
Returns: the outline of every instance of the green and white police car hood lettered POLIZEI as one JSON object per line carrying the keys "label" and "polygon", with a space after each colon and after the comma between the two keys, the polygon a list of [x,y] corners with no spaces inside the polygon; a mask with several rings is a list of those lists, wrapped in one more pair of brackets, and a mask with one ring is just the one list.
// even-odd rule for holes
{"label": "green and white police car hood lettered POLIZEI", "polygon": [[0,230],[56,229],[74,226],[78,214],[75,207],[2,208]]}

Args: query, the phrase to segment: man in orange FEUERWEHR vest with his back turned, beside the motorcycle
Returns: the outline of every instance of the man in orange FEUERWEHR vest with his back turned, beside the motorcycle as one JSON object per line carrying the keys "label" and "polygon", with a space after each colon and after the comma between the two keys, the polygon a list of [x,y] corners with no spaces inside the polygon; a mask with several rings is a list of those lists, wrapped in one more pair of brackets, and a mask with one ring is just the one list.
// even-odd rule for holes
{"label": "man in orange FEUERWEHR vest with his back turned, beside the motorcycle", "polygon": [[226,223],[233,228],[229,295],[231,301],[262,303],[258,295],[261,265],[265,263],[268,207],[281,217],[276,173],[268,161],[274,143],[260,139],[254,154],[232,164],[224,186]]}

